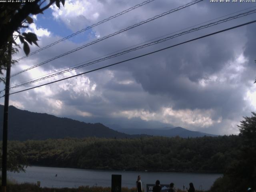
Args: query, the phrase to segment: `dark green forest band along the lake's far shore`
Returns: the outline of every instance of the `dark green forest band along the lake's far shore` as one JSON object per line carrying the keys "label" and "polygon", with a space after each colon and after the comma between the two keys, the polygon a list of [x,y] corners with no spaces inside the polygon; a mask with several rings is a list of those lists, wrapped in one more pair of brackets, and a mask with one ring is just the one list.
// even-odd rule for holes
{"label": "dark green forest band along the lake's far shore", "polygon": [[100,170],[224,172],[238,136],[202,138],[65,138],[11,141],[28,164]]}

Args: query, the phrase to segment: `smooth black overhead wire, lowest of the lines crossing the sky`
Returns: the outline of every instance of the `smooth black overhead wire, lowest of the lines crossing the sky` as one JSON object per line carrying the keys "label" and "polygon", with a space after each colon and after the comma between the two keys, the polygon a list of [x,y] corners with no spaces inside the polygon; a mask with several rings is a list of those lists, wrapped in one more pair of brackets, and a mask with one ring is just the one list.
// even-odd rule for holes
{"label": "smooth black overhead wire, lowest of the lines crossing the sky", "polygon": [[[205,38],[205,37],[208,37],[208,36],[212,36],[214,34],[218,34],[218,33],[221,33],[221,32],[225,32],[225,31],[228,31],[228,30],[232,30],[232,29],[235,29],[235,28],[238,28],[238,27],[242,27],[242,26],[245,26],[245,25],[248,25],[248,24],[252,24],[252,23],[255,23],[256,20],[253,20],[251,22],[246,22],[244,24],[240,24],[240,25],[236,25],[234,27],[230,27],[230,28],[226,28],[224,30],[220,30],[220,31],[217,31],[217,32],[214,32],[214,33],[210,33],[210,34],[207,34],[207,35],[204,35],[204,36],[200,36],[198,38],[194,38],[194,39],[191,39],[191,40],[188,40],[188,41],[184,41],[182,43],[178,43],[178,44],[175,44],[175,45],[172,45],[172,46],[168,46],[166,48],[162,48],[162,49],[159,49],[159,50],[156,50],[156,51],[153,51],[153,52],[149,52],[147,54],[143,54],[143,55],[140,55],[140,56],[136,56],[134,58],[130,58],[130,59],[127,59],[127,60],[123,60],[123,61],[120,61],[120,62],[116,62],[114,64],[110,64],[110,65],[107,65],[107,66],[103,66],[103,67],[100,67],[100,68],[96,68],[94,70],[90,70],[90,71],[87,71],[87,72],[84,72],[84,73],[81,73],[81,74],[77,74],[77,75],[74,75],[74,76],[70,76],[70,77],[67,77],[67,78],[63,78],[63,79],[60,79],[60,80],[56,80],[56,81],[52,81],[52,82],[49,82],[49,83],[46,83],[46,84],[42,84],[42,85],[38,85],[38,86],[34,86],[34,87],[31,87],[31,88],[28,88],[28,89],[24,89],[24,90],[20,90],[20,91],[17,91],[17,92],[13,92],[13,93],[10,93],[9,95],[12,95],[12,94],[16,94],[16,93],[20,93],[20,92],[24,92],[24,91],[27,91],[27,90],[31,90],[31,89],[34,89],[34,88],[38,88],[38,87],[42,87],[42,86],[45,86],[45,85],[49,85],[49,84],[52,84],[52,83],[56,83],[56,82],[60,82],[60,81],[63,81],[63,80],[66,80],[66,79],[70,79],[70,78],[73,78],[73,77],[76,77],[76,76],[80,76],[80,75],[84,75],[84,74],[87,74],[87,73],[90,73],[90,72],[94,72],[94,71],[97,71],[97,70],[100,70],[100,69],[104,69],[104,68],[108,68],[110,66],[114,66],[114,65],[117,65],[117,64],[120,64],[120,63],[123,63],[123,62],[127,62],[127,61],[130,61],[130,60],[134,60],[134,59],[137,59],[137,58],[140,58],[140,57],[144,57],[144,56],[147,56],[147,55],[150,55],[150,54],[153,54],[153,53],[156,53],[156,52],[160,52],[162,50],[166,50],[166,49],[169,49],[169,48],[172,48],[172,47],[175,47],[175,46],[179,46],[179,45],[182,45],[182,44],[186,44],[188,42],[192,42],[192,41],[195,41],[195,40],[198,40],[198,39],[202,39],[202,38]],[[1,96],[0,98],[2,98],[4,96]]]}

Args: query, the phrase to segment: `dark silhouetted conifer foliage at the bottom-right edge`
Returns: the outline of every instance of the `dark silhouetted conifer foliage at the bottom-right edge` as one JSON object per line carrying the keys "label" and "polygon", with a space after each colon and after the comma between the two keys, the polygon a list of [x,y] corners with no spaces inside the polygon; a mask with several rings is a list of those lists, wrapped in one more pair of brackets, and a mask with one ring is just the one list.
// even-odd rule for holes
{"label": "dark silhouetted conifer foliage at the bottom-right edge", "polygon": [[[241,121],[239,138],[241,144],[227,166],[224,177],[214,183],[212,191],[246,191],[248,187],[256,189],[256,113],[244,117]],[[221,185],[226,183],[226,186]]]}

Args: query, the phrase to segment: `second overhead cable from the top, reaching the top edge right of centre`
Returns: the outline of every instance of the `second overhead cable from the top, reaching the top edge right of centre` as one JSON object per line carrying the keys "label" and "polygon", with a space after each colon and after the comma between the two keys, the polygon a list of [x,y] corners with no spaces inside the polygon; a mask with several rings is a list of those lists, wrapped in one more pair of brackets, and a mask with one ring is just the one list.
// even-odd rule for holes
{"label": "second overhead cable from the top, reaching the top edge right of centre", "polygon": [[117,35],[117,34],[120,34],[120,33],[122,33],[122,32],[125,32],[125,31],[127,31],[127,30],[130,30],[130,29],[132,29],[132,28],[135,28],[135,27],[140,26],[140,25],[142,25],[142,24],[145,24],[145,23],[147,23],[147,22],[153,21],[153,20],[155,20],[155,19],[157,19],[157,18],[160,18],[160,17],[162,17],[162,16],[168,15],[168,14],[170,14],[170,13],[176,12],[176,11],[181,10],[181,9],[183,9],[183,8],[186,8],[186,7],[188,7],[188,6],[191,6],[191,5],[194,5],[194,4],[196,4],[196,3],[199,3],[199,2],[201,2],[201,1],[203,1],[203,0],[195,0],[195,1],[192,1],[192,2],[187,3],[187,4],[185,4],[185,5],[182,5],[182,6],[179,6],[179,7],[177,7],[177,8],[174,8],[174,9],[172,9],[172,10],[169,10],[169,11],[167,11],[167,12],[164,12],[164,13],[162,13],[162,14],[156,15],[156,16],[154,16],[154,17],[152,17],[152,18],[149,18],[149,19],[147,19],[147,20],[144,20],[144,21],[142,21],[142,22],[139,22],[139,23],[137,23],[137,24],[134,24],[134,25],[132,25],[132,26],[129,26],[129,27],[127,27],[127,28],[124,28],[124,29],[122,29],[122,30],[119,30],[119,31],[117,31],[117,32],[114,32],[114,33],[112,33],[112,34],[109,34],[109,35],[107,35],[107,36],[104,36],[104,37],[102,37],[102,38],[100,38],[100,39],[94,40],[94,41],[92,41],[92,42],[90,42],[90,43],[88,43],[88,44],[85,44],[85,45],[83,45],[83,46],[80,46],[80,47],[78,47],[78,48],[75,48],[75,49],[73,49],[73,50],[70,50],[70,51],[68,51],[68,52],[66,52],[66,53],[64,53],[64,54],[61,54],[61,55],[56,56],[56,57],[54,57],[54,58],[48,59],[48,60],[46,60],[46,61],[44,61],[44,62],[42,62],[42,63],[36,64],[36,65],[34,65],[34,66],[31,66],[31,67],[29,67],[29,68],[27,68],[27,69],[24,69],[24,70],[20,71],[20,72],[17,72],[17,73],[15,73],[15,74],[12,74],[11,77],[16,76],[16,75],[18,75],[18,74],[20,74],[20,73],[22,73],[22,72],[28,71],[28,70],[30,70],[30,69],[36,68],[36,67],[38,67],[38,66],[41,66],[41,65],[43,65],[43,64],[46,64],[46,63],[48,63],[48,62],[50,62],[50,61],[53,61],[53,60],[55,60],[55,59],[57,59],[57,58],[60,58],[60,57],[62,57],[62,56],[65,56],[65,55],[68,55],[68,54],[70,54],[70,53],[76,52],[76,51],[78,51],[78,50],[80,50],[80,49],[82,49],[82,48],[85,48],[85,47],[87,47],[87,46],[90,46],[90,45],[95,44],[95,43],[97,43],[97,42],[100,42],[100,41],[102,41],[102,40],[105,40],[105,39],[107,39],[107,38],[110,38],[110,37],[112,37],[112,36],[115,36],[115,35]]}

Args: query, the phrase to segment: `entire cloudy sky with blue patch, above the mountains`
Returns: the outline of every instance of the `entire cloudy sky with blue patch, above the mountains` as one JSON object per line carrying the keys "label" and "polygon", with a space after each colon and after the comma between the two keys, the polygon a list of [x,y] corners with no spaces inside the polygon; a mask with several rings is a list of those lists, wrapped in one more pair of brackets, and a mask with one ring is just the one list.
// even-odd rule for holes
{"label": "entire cloudy sky with blue patch, above the mountains", "polygon": [[[42,48],[141,2],[66,0],[65,6],[61,5],[60,9],[54,5],[44,11],[44,14],[32,16],[34,23],[30,24],[26,32],[36,33],[38,45]],[[20,60],[12,66],[11,74],[188,2],[190,1],[154,0]],[[11,85],[253,9],[256,9],[256,3],[253,2],[204,0],[23,72],[11,78]],[[11,89],[10,93],[140,56],[255,18],[255,13],[250,14],[47,80]],[[181,126],[210,134],[238,134],[237,125],[243,120],[243,116],[251,116],[251,112],[256,111],[255,31],[255,23],[246,25],[102,70],[12,94],[10,105],[84,122],[101,122],[110,128]],[[32,52],[38,47],[30,46],[30,49]],[[22,56],[24,51],[20,50],[13,58]],[[0,88],[4,88],[3,84]],[[4,103],[3,98],[0,103]]]}

